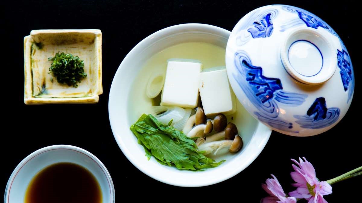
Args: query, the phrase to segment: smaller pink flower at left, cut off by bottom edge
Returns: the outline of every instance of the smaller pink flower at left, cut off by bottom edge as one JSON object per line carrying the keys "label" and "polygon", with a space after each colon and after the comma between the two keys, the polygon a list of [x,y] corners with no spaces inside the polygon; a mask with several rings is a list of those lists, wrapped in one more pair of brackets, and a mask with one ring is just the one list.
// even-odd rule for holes
{"label": "smaller pink flower at left, cut off by bottom edge", "polygon": [[261,199],[261,203],[296,203],[296,198],[286,197],[282,186],[278,179],[271,174],[273,178],[266,179],[266,184],[261,184],[261,187],[270,195]]}

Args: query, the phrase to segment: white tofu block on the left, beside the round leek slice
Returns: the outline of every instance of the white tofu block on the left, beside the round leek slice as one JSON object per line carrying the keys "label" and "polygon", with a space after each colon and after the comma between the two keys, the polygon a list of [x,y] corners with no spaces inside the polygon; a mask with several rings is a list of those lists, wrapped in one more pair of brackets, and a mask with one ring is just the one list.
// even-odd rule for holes
{"label": "white tofu block on the left, beside the round leek slice", "polygon": [[195,108],[199,98],[199,73],[202,64],[169,61],[161,95],[161,105]]}

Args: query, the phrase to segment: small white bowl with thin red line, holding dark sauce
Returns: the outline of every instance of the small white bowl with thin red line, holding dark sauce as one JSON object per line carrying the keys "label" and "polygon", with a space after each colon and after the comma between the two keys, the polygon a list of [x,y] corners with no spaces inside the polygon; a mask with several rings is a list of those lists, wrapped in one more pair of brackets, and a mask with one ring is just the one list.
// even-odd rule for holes
{"label": "small white bowl with thin red line, holding dark sauce", "polygon": [[79,147],[54,145],[31,153],[18,164],[6,186],[4,203],[24,202],[25,192],[31,179],[43,168],[59,162],[75,163],[87,168],[101,186],[102,202],[115,202],[113,181],[97,157]]}

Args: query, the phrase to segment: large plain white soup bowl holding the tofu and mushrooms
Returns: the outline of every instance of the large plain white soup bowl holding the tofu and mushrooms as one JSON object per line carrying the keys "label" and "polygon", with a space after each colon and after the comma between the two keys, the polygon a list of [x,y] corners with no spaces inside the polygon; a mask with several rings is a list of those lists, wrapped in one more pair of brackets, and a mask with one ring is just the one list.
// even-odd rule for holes
{"label": "large plain white soup bowl holding the tofu and mushrooms", "polygon": [[[171,26],[151,34],[137,44],[125,57],[114,76],[109,94],[109,120],[114,138],[123,154],[135,167],[148,176],[176,186],[206,186],[224,181],[248,167],[260,154],[268,141],[271,130],[254,120],[238,103],[237,111],[242,111],[244,125],[239,133],[243,136],[244,147],[236,154],[228,154],[226,162],[203,172],[178,170],[159,164],[153,157],[147,160],[143,147],[130,131],[130,126],[144,112],[132,112],[130,91],[144,62],[167,47],[184,42],[206,42],[226,47],[230,31],[205,24],[182,24]],[[145,83],[146,84],[146,83]],[[146,86],[145,86],[146,87]],[[142,91],[139,92],[142,94]],[[146,90],[144,91],[146,94]],[[149,103],[148,105],[151,105]],[[143,108],[143,107],[140,107]],[[239,128],[239,127],[238,127]],[[224,157],[223,157],[224,158]]]}

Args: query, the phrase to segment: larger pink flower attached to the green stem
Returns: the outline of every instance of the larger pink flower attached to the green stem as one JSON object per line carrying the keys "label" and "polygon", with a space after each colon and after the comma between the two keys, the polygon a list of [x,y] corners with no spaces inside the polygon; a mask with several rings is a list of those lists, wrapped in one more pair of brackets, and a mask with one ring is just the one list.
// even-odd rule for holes
{"label": "larger pink flower attached to the green stem", "polygon": [[299,158],[298,161],[294,161],[298,167],[292,164],[294,172],[290,175],[296,182],[292,185],[297,187],[296,190],[289,193],[290,196],[309,200],[308,203],[328,203],[323,196],[332,193],[332,187],[325,181],[319,182],[316,177],[316,172],[313,165],[304,158],[304,161]]}

